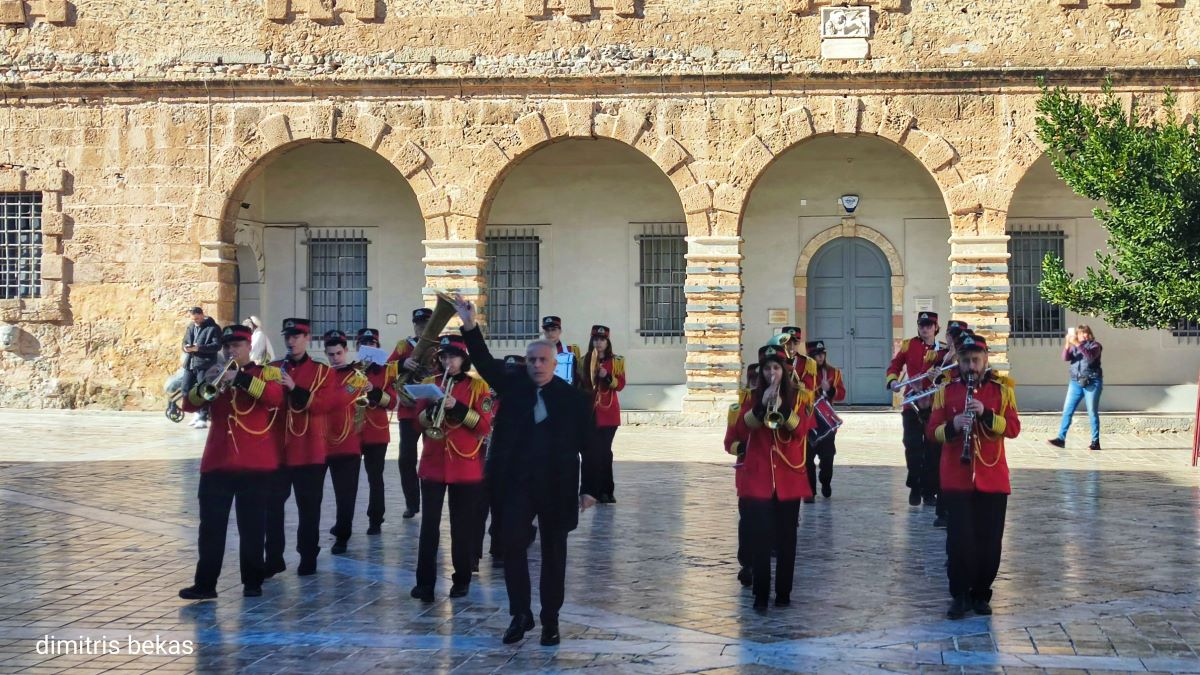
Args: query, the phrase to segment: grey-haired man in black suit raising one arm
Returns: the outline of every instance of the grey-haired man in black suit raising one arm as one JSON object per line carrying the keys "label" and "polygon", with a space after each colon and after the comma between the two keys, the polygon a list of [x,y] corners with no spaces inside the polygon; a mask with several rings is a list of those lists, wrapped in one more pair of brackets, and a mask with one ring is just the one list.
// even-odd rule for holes
{"label": "grey-haired man in black suit raising one arm", "polygon": [[[587,461],[587,442],[595,422],[586,394],[554,376],[556,348],[538,340],[526,348],[526,369],[506,372],[492,358],[475,324],[475,306],[456,297],[462,334],[475,370],[491,384],[502,405],[492,422],[485,477],[492,498],[502,504],[500,546],[504,586],[512,623],[504,644],[532,631],[529,561],[526,537],[538,518],[541,533],[541,644],[557,645],[558,610],[566,578],[566,534],[580,522],[580,512],[596,503]],[[583,466],[582,484],[580,467]]]}

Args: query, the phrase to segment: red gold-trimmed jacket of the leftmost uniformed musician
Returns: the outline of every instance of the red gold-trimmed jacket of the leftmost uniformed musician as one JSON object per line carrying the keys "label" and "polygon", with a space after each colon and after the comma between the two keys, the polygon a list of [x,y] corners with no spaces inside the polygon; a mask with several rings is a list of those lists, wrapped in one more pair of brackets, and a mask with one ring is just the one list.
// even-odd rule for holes
{"label": "red gold-trimmed jacket of the leftmost uniformed musician", "polygon": [[272,430],[283,405],[278,369],[250,363],[211,402],[200,396],[200,384],[182,400],[186,412],[209,408],[209,438],[204,442],[200,473],[278,468],[278,437]]}

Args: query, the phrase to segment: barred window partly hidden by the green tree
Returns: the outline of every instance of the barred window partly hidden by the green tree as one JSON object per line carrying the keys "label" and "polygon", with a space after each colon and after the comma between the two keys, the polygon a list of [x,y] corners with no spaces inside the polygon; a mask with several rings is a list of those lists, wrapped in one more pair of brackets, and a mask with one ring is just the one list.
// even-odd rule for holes
{"label": "barred window partly hidden by the green tree", "polygon": [[1009,232],[1008,317],[1013,338],[1060,338],[1063,334],[1062,307],[1050,304],[1038,291],[1042,261],[1046,253],[1063,256],[1066,235],[1054,227]]}

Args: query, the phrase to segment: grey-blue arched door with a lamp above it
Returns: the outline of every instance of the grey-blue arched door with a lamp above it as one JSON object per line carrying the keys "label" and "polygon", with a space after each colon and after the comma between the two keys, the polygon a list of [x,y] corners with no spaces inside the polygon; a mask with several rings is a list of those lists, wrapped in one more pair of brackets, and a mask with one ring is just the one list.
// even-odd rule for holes
{"label": "grey-blue arched door with a lamp above it", "polygon": [[840,237],[814,256],[808,274],[810,339],[824,340],[842,369],[851,405],[886,405],[881,382],[892,350],[892,268],[878,246]]}

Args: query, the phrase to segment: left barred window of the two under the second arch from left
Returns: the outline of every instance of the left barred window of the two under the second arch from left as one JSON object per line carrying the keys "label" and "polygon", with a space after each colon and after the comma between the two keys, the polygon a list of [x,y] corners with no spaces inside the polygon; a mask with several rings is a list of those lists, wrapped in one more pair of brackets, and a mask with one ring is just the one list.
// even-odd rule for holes
{"label": "left barred window of the two under the second arch from left", "polygon": [[498,340],[536,338],[541,239],[533,228],[490,227],[485,243],[488,335]]}

